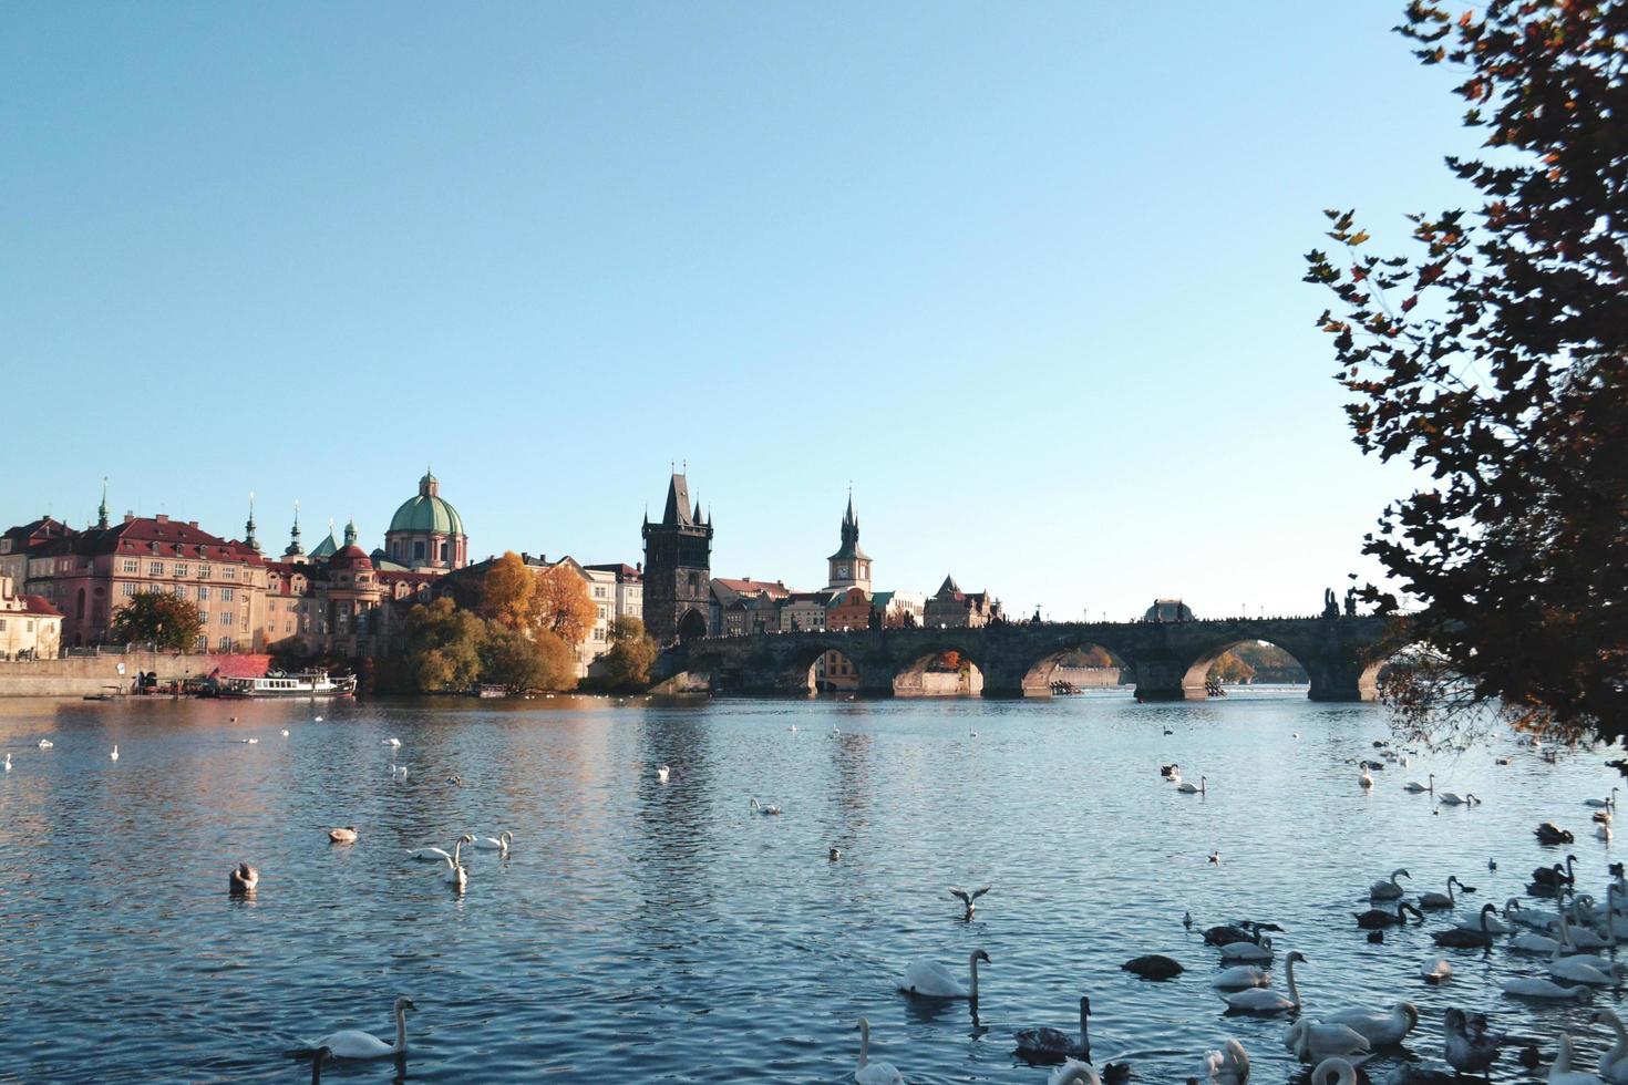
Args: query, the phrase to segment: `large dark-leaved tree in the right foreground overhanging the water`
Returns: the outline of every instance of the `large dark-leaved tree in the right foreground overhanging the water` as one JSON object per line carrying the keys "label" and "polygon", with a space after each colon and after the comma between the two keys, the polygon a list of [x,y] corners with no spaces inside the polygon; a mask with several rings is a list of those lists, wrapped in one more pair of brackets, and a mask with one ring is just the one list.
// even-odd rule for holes
{"label": "large dark-leaved tree in the right foreground overhanging the water", "polygon": [[[1330,211],[1338,381],[1356,444],[1429,485],[1390,504],[1364,553],[1423,602],[1421,651],[1387,699],[1418,737],[1501,706],[1517,722],[1628,727],[1628,3],[1415,2],[1397,28],[1459,68],[1485,158],[1447,158],[1473,213],[1410,216],[1371,252]],[[1398,600],[1369,586],[1382,610]],[[1460,711],[1455,711],[1460,709]],[[1462,711],[1470,709],[1470,711]]]}

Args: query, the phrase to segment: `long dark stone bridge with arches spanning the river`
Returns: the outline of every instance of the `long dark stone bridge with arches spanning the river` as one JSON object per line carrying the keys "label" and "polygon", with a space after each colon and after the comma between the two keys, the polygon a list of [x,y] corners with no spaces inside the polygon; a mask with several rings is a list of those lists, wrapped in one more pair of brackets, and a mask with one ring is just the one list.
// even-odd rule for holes
{"label": "long dark stone bridge with arches spanning the river", "polygon": [[1291,654],[1311,675],[1314,701],[1371,701],[1379,669],[1405,638],[1394,618],[1382,617],[759,633],[669,647],[653,677],[672,688],[806,695],[812,690],[809,669],[837,651],[858,670],[860,693],[892,696],[907,691],[910,677],[933,659],[954,651],[983,673],[983,696],[1048,696],[1060,657],[1096,646],[1125,660],[1143,699],[1179,701],[1203,698],[1210,664],[1249,641]]}

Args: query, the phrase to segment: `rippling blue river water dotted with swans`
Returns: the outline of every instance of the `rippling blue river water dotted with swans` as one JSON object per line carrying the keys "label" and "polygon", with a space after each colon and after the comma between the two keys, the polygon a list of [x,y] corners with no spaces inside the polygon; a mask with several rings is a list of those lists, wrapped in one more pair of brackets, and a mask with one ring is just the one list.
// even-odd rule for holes
{"label": "rippling blue river water dotted with swans", "polygon": [[[1503,948],[1447,952],[1454,979],[1426,987],[1428,930],[1446,919],[1371,945],[1351,914],[1395,867],[1415,893],[1449,874],[1478,887],[1460,914],[1501,904],[1563,859],[1532,834],[1550,818],[1578,834],[1579,888],[1604,896],[1613,851],[1582,800],[1615,769],[1496,740],[1387,766],[1364,794],[1354,763],[1387,735],[1381,709],[1299,690],[1190,704],[7,701],[0,1080],[303,1082],[291,1051],[345,1026],[394,1039],[399,994],[418,1007],[405,1065],[329,1064],[324,1080],[842,1082],[864,1015],[871,1057],[910,1082],[1044,1082],[1013,1031],[1071,1028],[1079,996],[1097,1062],[1127,1057],[1136,1080],[1182,1082],[1228,1036],[1252,1080],[1304,1080],[1286,1018],[1228,1017],[1208,986],[1218,953],[1200,930],[1239,917],[1284,927],[1280,966],[1289,948],[1307,956],[1312,1015],[1408,999],[1421,1023],[1407,1048],[1441,1065],[1442,1012],[1465,1005],[1540,1038],[1545,1057],[1569,1028],[1592,1069],[1605,1038],[1589,1009],[1621,989],[1517,1002],[1498,983],[1540,965]],[[1208,792],[1162,782],[1169,761]],[[1485,805],[1403,792],[1429,771]],[[785,813],[755,815],[751,797]],[[347,825],[360,839],[330,844]],[[462,895],[444,865],[404,857],[503,830],[510,857],[464,852]],[[252,900],[226,893],[239,861],[260,870]],[[983,883],[967,922],[947,887]],[[897,992],[912,958],[964,971],[975,948],[991,958],[977,1017]],[[1154,952],[1188,971],[1120,971]],[[1395,1062],[1369,1070],[1384,1080]],[[1493,1080],[1540,1077],[1511,1051]]]}

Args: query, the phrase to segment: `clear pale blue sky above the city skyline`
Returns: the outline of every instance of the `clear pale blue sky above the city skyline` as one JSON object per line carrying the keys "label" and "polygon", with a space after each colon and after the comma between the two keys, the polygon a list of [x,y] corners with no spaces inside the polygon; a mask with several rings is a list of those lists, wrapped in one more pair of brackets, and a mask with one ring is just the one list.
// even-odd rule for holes
{"label": "clear pale blue sky above the city skyline", "polygon": [[1320,210],[1462,205],[1402,3],[0,7],[0,521],[1302,613],[1410,477],[1350,442]]}

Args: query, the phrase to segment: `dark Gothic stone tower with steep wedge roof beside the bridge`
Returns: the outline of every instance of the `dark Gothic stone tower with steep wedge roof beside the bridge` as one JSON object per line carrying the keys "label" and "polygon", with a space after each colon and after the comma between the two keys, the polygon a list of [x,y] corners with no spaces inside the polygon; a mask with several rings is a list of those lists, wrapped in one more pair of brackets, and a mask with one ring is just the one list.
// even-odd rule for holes
{"label": "dark Gothic stone tower with steep wedge roof beside the bridge", "polygon": [[658,644],[707,636],[713,524],[690,509],[689,480],[674,473],[661,521],[645,516],[645,631]]}

